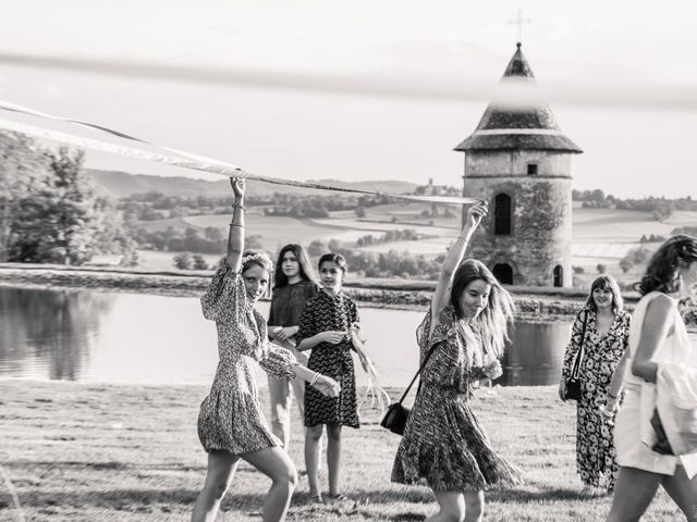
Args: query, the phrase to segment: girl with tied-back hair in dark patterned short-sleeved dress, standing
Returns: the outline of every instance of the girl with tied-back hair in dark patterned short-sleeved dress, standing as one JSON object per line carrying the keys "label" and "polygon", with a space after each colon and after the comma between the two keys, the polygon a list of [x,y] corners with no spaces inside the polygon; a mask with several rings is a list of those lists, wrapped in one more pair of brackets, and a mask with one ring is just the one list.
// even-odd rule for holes
{"label": "girl with tied-back hair in dark patterned short-sleeved dress, standing", "polygon": [[348,334],[358,322],[356,303],[341,291],[346,274],[346,260],[339,253],[326,253],[319,258],[321,291],[305,303],[301,330],[296,335],[297,349],[309,350],[307,366],[335,378],[341,384],[339,397],[326,397],[306,386],[305,389],[305,467],[310,497],[322,502],[318,486],[319,439],[327,425],[327,468],[329,469],[329,499],[346,502],[339,493],[341,463],[341,428],[358,427],[356,377]]}

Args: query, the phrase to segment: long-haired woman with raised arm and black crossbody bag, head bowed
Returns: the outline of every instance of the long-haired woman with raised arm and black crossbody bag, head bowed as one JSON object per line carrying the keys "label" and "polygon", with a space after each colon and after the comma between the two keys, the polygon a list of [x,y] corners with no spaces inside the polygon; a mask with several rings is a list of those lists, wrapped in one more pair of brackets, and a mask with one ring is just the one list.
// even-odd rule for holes
{"label": "long-haired woman with raised arm and black crossbody bag, head bowed", "polygon": [[416,332],[421,361],[433,350],[394,459],[392,481],[426,481],[440,511],[427,519],[481,521],[484,492],[519,482],[517,470],[491,448],[469,399],[479,382],[498,378],[513,300],[479,261],[463,262],[469,238],[487,213],[467,211],[450,248],[431,307]]}

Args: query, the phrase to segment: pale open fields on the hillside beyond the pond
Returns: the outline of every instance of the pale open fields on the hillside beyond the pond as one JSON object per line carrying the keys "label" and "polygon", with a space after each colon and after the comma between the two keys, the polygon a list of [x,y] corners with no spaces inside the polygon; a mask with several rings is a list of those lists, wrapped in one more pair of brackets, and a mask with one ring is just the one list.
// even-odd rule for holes
{"label": "pale open fields on the hillside beyond the pond", "polygon": [[[261,236],[264,247],[274,252],[281,246],[293,241],[309,245],[316,239],[327,243],[337,239],[355,245],[362,236],[378,237],[391,229],[412,228],[419,233],[423,239],[374,245],[365,247],[364,250],[409,251],[430,257],[442,253],[457,235],[460,217],[421,217],[420,213],[429,208],[427,203],[387,204],[368,208],[364,219],[356,217],[352,211],[341,211],[333,212],[328,219],[313,220],[265,216],[252,211],[246,215],[246,229],[249,235]],[[166,229],[168,226],[191,226],[200,229],[217,226],[227,229],[229,222],[229,215],[213,214],[142,222],[139,226],[149,231]],[[674,228],[681,226],[697,226],[697,212],[678,211],[660,223],[647,212],[576,207],[573,210],[573,264],[584,268],[586,272],[595,272],[596,266],[603,263],[609,272],[619,274],[617,262],[629,249],[639,246],[643,235],[656,234],[668,237]],[[645,245],[649,249],[657,246],[658,244]],[[142,266],[154,270],[164,268],[167,258],[171,260],[173,254],[174,252],[146,252],[142,256]],[[171,262],[167,268],[171,268]]]}

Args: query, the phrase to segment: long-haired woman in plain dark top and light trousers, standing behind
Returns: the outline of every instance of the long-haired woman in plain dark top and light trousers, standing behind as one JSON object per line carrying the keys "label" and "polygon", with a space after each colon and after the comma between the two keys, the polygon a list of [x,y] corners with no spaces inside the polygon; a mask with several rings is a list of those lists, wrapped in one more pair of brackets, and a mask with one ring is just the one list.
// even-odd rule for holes
{"label": "long-haired woman in plain dark top and light trousers, standing behind", "polygon": [[[269,312],[269,338],[291,351],[295,359],[307,364],[307,357],[295,349],[295,334],[299,330],[305,301],[317,295],[317,277],[305,249],[296,244],[285,245],[279,252],[273,273],[273,294]],[[305,383],[297,378],[268,374],[271,400],[271,431],[283,442],[288,451],[291,440],[291,387],[295,394],[301,418],[305,415]]]}

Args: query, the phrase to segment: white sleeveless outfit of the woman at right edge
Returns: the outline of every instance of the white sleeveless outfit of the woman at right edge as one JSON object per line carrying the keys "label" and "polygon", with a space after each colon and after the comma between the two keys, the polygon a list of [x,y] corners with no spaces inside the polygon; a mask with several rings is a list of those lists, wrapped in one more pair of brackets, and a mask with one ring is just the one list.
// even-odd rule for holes
{"label": "white sleeveless outfit of the woman at right edge", "polygon": [[[634,358],[646,310],[657,296],[658,291],[647,294],[641,298],[632,315],[632,328],[629,332],[629,357]],[[697,368],[697,350],[689,343],[687,328],[680,311],[677,300],[673,301],[673,326],[668,337],[658,347],[651,361],[660,362],[671,360],[682,362],[693,368]],[[697,453],[674,457],[672,455],[661,455],[652,451],[641,442],[641,414],[640,399],[641,387],[646,383],[640,377],[632,373],[632,359],[624,378],[624,402],[617,413],[617,421],[614,427],[614,444],[617,451],[617,462],[625,468],[636,468],[652,473],[674,475],[678,464],[685,467],[687,476],[692,478],[697,472]]]}

